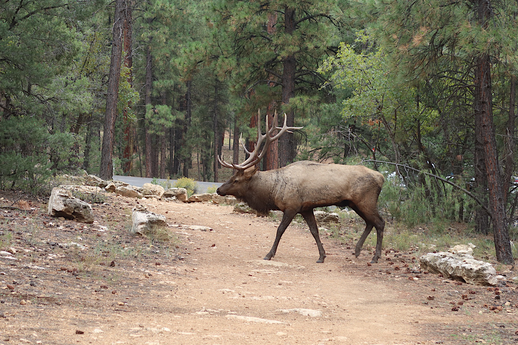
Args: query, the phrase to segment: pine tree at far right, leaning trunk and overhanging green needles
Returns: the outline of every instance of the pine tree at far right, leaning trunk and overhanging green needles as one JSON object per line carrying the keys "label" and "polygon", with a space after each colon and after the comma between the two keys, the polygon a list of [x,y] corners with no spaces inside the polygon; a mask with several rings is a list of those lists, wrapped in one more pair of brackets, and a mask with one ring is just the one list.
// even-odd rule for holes
{"label": "pine tree at far right, leaning trunk and overhanging green needles", "polygon": [[[476,178],[480,184],[485,175],[484,182],[487,182],[497,259],[511,263],[505,191],[495,138],[491,73],[500,70],[515,74],[516,4],[486,0],[448,4],[393,0],[383,4],[359,2],[358,5],[359,18],[373,19],[372,32],[391,54],[401,80],[406,83],[423,79],[449,80],[447,82],[457,89],[464,83],[461,97],[472,95],[476,167],[484,170],[477,173]],[[496,65],[498,69],[494,68]],[[471,88],[474,89],[472,94]]]}

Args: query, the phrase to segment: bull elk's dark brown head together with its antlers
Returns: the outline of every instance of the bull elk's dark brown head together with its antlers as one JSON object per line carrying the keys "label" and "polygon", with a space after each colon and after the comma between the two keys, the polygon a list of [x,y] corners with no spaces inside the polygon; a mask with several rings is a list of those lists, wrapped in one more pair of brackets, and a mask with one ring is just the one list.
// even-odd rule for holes
{"label": "bull elk's dark brown head together with its antlers", "polygon": [[[274,124],[277,123],[277,111],[274,114]],[[226,196],[231,194],[238,198],[242,197],[244,193],[246,193],[248,189],[248,183],[252,176],[258,170],[257,164],[261,162],[266,152],[268,151],[268,147],[270,144],[279,139],[282,134],[285,132],[292,133],[292,130],[301,129],[303,127],[288,127],[286,125],[286,114],[284,114],[284,124],[282,127],[272,126],[269,128],[268,125],[268,116],[266,116],[266,133],[263,134],[261,132],[261,110],[257,110],[257,143],[255,144],[255,149],[252,152],[249,152],[246,146],[242,141],[242,134],[239,138],[241,142],[241,146],[244,149],[244,152],[249,155],[249,157],[240,164],[227,163],[223,159],[223,154],[218,156],[218,161],[221,163],[223,167],[235,169],[236,172],[234,175],[228,179],[220,188],[216,191],[221,196]],[[277,134],[272,136],[276,130],[279,130]],[[263,145],[264,142],[264,145]],[[263,147],[261,147],[263,146]]]}

